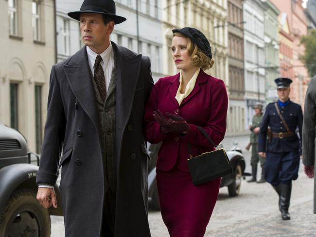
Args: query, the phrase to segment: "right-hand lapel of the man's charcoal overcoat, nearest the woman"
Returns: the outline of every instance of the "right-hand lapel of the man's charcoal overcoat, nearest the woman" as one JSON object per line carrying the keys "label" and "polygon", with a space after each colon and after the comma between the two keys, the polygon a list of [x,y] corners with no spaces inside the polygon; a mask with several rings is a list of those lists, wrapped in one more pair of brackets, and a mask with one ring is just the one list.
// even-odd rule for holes
{"label": "right-hand lapel of the man's charcoal overcoat, nearest the woman", "polygon": [[121,156],[123,131],[131,114],[139,79],[141,55],[124,53],[123,47],[112,42],[116,52],[116,134],[117,152]]}

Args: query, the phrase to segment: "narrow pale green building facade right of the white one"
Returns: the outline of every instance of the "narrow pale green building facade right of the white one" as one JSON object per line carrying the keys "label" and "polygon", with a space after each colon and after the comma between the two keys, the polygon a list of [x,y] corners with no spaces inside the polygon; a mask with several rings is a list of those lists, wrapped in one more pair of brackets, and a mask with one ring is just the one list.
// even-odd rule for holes
{"label": "narrow pale green building facade right of the white one", "polygon": [[266,7],[264,12],[264,50],[265,50],[265,81],[266,99],[272,102],[278,99],[276,84],[274,79],[280,77],[279,63],[279,30],[278,16],[279,9],[270,1],[265,0]]}

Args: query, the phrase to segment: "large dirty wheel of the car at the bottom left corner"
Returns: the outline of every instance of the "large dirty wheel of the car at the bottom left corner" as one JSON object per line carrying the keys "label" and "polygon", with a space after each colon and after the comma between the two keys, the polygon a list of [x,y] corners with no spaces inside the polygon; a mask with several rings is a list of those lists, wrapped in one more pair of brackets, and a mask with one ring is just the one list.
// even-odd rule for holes
{"label": "large dirty wheel of the car at the bottom left corner", "polygon": [[51,218],[31,189],[18,189],[5,204],[0,216],[1,237],[51,236]]}

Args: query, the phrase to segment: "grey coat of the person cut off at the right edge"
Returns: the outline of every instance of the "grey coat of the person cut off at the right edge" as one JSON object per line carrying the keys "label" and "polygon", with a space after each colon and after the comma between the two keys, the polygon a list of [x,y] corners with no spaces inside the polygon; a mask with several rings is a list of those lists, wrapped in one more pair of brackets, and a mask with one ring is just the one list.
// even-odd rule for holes
{"label": "grey coat of the person cut off at the right edge", "polygon": [[[303,118],[303,164],[315,165],[315,135],[316,135],[316,76],[308,86]],[[315,170],[316,171],[316,170]],[[315,172],[316,173],[316,172]],[[316,214],[316,176],[314,176],[314,214]]]}

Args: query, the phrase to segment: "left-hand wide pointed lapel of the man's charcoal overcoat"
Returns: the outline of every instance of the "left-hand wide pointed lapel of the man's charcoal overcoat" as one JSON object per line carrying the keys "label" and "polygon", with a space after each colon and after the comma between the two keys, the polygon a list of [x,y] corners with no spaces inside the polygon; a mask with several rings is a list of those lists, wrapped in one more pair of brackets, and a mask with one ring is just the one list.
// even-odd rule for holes
{"label": "left-hand wide pointed lapel of the man's charcoal overcoat", "polygon": [[73,94],[99,132],[100,119],[86,47],[78,51],[72,60],[63,67]]}

